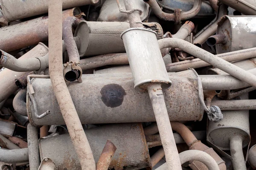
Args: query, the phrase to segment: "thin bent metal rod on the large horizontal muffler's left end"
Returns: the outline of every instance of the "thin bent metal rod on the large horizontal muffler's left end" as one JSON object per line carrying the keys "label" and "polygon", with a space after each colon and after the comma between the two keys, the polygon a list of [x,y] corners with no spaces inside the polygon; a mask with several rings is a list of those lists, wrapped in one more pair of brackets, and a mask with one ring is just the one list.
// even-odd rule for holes
{"label": "thin bent metal rod on the large horizontal muffler's left end", "polygon": [[29,94],[29,98],[31,99],[31,102],[33,104],[33,108],[34,108],[34,111],[35,111],[35,117],[38,118],[38,119],[41,119],[44,116],[50,114],[50,111],[47,110],[46,112],[42,113],[41,115],[38,115],[37,104],[36,104],[36,101],[35,101],[35,97],[33,95],[33,94],[35,94],[35,91],[34,91],[33,86],[32,86],[31,78],[49,79],[50,76],[48,76],[48,75],[30,74],[27,77],[27,82],[28,82],[27,91],[28,91],[28,94]]}

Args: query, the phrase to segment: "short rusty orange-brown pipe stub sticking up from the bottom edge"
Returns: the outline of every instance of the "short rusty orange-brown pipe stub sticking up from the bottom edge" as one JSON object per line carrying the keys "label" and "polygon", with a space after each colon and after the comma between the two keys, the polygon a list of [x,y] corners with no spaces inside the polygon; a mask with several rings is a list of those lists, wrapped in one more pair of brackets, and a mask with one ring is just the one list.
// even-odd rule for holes
{"label": "short rusty orange-brown pipe stub sticking up from the bottom edge", "polygon": [[99,156],[99,161],[97,162],[96,170],[108,170],[111,160],[116,152],[116,146],[107,140],[101,155]]}

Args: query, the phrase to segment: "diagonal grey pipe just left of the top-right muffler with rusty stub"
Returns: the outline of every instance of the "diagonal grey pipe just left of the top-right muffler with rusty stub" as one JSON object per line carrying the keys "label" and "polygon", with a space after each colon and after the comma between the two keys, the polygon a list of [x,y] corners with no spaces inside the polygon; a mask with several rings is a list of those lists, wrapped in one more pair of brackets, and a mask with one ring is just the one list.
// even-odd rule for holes
{"label": "diagonal grey pipe just left of the top-right muffler with rusty stub", "polygon": [[[215,1],[215,0],[211,0]],[[227,7],[224,4],[221,4],[220,7],[218,8],[218,12],[216,14],[216,17],[214,20],[212,20],[211,23],[209,23],[207,26],[205,26],[201,31],[199,31],[195,36],[194,36],[194,44],[203,44],[206,42],[206,40],[213,35],[217,31],[218,27],[218,21],[221,20],[221,17],[223,15],[227,15]]]}

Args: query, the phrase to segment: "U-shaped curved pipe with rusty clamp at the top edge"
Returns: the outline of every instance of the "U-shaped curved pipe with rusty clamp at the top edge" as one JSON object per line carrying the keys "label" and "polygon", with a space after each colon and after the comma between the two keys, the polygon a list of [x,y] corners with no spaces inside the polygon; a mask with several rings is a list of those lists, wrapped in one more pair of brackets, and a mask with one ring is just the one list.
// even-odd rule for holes
{"label": "U-shaped curved pipe with rusty clamp at the top edge", "polygon": [[198,14],[198,12],[201,9],[202,0],[195,0],[194,6],[191,10],[186,12],[181,12],[180,9],[175,10],[175,13],[168,14],[162,11],[160,6],[157,4],[156,0],[143,0],[145,3],[148,3],[151,10],[154,12],[154,14],[160,18],[161,20],[166,21],[175,21],[176,23],[180,23],[181,20],[188,20],[192,17],[195,17],[195,15]]}

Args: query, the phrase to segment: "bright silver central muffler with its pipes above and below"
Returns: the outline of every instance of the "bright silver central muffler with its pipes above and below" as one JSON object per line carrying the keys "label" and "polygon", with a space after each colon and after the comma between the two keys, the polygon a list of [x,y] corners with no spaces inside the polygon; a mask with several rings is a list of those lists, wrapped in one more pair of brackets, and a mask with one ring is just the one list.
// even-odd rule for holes
{"label": "bright silver central muffler with its pipes above and below", "polygon": [[[126,10],[134,10],[129,0],[124,0]],[[159,134],[166,154],[168,170],[181,170],[178,151],[172,133],[162,89],[169,88],[170,81],[156,33],[142,28],[138,11],[128,14],[130,29],[121,34],[134,78],[134,88],[148,90],[148,95],[159,128]],[[137,28],[132,28],[133,26]],[[138,57],[139,56],[139,57]]]}

